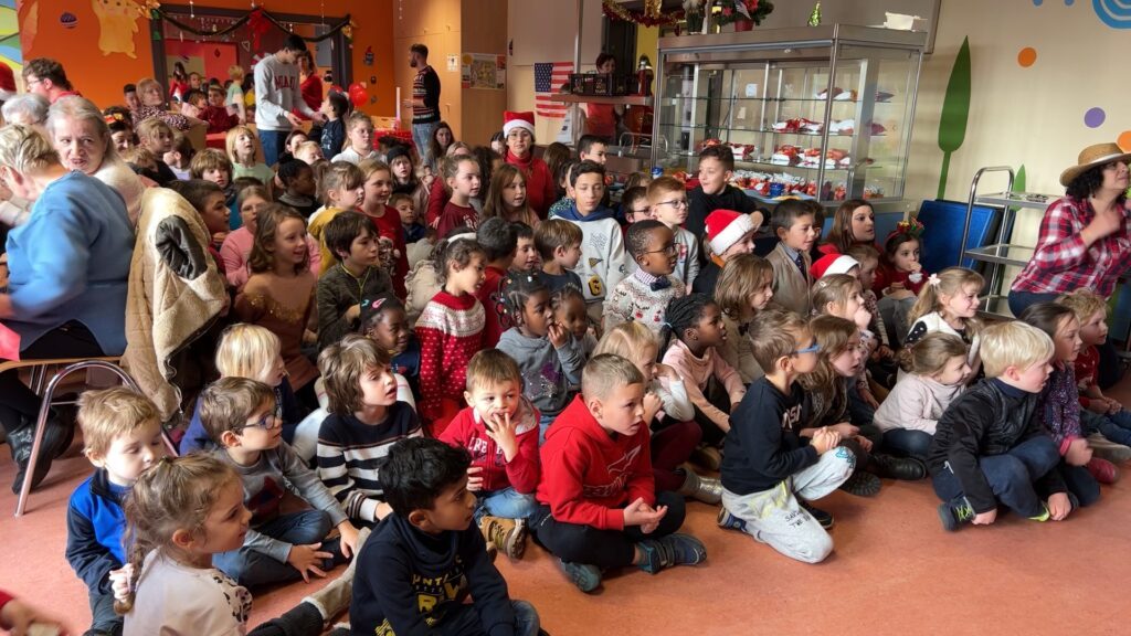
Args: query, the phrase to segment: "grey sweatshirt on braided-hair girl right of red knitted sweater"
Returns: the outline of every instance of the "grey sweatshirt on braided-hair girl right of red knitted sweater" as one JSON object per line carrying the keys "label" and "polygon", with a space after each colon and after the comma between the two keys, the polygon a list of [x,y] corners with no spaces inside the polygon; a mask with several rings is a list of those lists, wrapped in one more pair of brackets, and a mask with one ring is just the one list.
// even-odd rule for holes
{"label": "grey sweatshirt on braided-hair girl right of red knitted sweater", "polygon": [[511,327],[499,338],[499,351],[518,362],[523,393],[543,415],[556,415],[569,402],[570,385],[581,384],[585,358],[575,338],[555,350],[547,337],[530,338]]}

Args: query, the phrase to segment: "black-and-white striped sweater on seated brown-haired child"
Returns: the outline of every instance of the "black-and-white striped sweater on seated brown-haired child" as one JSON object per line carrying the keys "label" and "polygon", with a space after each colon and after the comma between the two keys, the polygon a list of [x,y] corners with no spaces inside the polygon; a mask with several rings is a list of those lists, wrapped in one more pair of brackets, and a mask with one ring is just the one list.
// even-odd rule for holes
{"label": "black-and-white striped sweater on seated brown-haired child", "polygon": [[394,444],[422,435],[416,413],[404,402],[390,406],[379,424],[330,413],[318,429],[318,478],[351,519],[375,522],[382,498],[378,466]]}

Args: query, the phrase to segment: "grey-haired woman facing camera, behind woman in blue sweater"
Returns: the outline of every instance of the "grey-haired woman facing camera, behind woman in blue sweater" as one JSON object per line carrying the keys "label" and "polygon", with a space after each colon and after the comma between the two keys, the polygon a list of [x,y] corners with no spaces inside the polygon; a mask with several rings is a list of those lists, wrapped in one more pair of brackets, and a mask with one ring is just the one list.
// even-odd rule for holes
{"label": "grey-haired woman facing camera, behind woman in blue sweater", "polygon": [[126,200],[130,223],[137,224],[145,184],[118,157],[106,118],[98,108],[83,97],[63,97],[52,104],[46,128],[63,165],[116,190]]}

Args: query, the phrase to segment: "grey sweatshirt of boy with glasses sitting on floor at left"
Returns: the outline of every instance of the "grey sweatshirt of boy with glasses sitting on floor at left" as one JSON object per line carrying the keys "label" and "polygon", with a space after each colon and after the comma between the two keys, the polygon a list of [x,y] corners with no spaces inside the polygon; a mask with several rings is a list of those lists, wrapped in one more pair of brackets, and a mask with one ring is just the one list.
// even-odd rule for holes
{"label": "grey sweatshirt of boy with glasses sitting on floor at left", "polygon": [[243,540],[243,544],[248,548],[262,552],[279,562],[286,562],[287,555],[291,553],[291,543],[256,532],[254,527],[257,522],[267,521],[261,518],[265,514],[277,510],[278,501],[283,498],[287,483],[311,507],[330,515],[333,525],[346,521],[346,514],[338,500],[334,498],[329,489],[322,485],[314,471],[308,469],[285,441],[279,442],[278,448],[264,450],[259,455],[259,461],[251,466],[236,464],[232,461],[231,455],[223,449],[217,450],[216,454],[221,459],[231,464],[243,481],[243,502],[251,509],[252,515],[251,530],[248,531],[248,536]]}

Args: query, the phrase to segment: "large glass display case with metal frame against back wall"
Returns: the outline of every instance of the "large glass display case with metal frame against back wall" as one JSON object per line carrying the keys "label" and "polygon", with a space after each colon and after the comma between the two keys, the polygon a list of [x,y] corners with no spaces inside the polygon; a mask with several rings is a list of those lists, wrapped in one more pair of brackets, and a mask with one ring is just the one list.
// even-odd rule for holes
{"label": "large glass display case with metal frame against back wall", "polygon": [[653,164],[734,151],[762,199],[899,199],[926,34],[831,25],[659,41]]}

